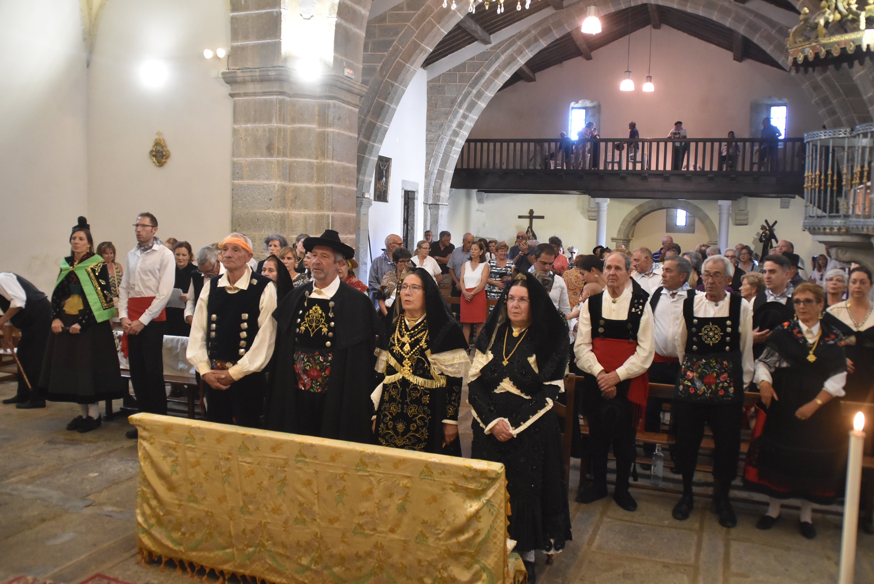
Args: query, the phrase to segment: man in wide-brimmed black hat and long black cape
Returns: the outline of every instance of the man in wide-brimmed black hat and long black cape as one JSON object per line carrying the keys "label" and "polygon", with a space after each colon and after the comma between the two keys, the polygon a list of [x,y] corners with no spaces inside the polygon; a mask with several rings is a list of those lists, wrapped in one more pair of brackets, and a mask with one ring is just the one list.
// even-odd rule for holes
{"label": "man in wide-brimmed black hat and long black cape", "polygon": [[303,240],[313,281],[274,312],[274,371],[267,428],[356,442],[373,441],[371,393],[379,320],[367,296],[339,277],[355,250],[336,231]]}

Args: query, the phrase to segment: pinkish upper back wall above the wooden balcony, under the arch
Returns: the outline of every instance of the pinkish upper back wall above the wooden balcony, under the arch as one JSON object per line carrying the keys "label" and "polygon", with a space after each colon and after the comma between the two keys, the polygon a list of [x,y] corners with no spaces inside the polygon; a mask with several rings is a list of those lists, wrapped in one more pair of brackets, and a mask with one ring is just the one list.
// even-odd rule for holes
{"label": "pinkish upper back wall above the wooden balcony, under the arch", "polygon": [[[471,138],[546,138],[568,130],[568,108],[581,99],[600,101],[600,136],[628,136],[637,122],[642,138],[663,138],[681,120],[689,136],[719,137],[734,130],[750,137],[750,102],[788,100],[788,136],[820,129],[822,118],[804,94],[800,76],[746,60],[697,38],[662,26],[653,31],[655,92],[641,91],[649,59],[649,28],[631,35],[631,72],[636,91],[622,92],[627,39],[537,73],[489,101]],[[756,122],[760,127],[761,120]],[[759,137],[759,135],[753,136]]]}

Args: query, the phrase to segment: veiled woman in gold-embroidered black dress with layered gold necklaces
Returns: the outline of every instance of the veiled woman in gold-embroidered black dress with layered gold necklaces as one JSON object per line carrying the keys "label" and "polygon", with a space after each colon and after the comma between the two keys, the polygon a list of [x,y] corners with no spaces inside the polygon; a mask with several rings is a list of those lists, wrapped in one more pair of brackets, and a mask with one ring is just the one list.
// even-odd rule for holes
{"label": "veiled woman in gold-embroidered black dress with layered gold necklaces", "polygon": [[377,351],[385,379],[371,396],[373,432],[383,446],[461,456],[458,410],[468,343],[427,270],[407,272],[398,297],[388,346]]}

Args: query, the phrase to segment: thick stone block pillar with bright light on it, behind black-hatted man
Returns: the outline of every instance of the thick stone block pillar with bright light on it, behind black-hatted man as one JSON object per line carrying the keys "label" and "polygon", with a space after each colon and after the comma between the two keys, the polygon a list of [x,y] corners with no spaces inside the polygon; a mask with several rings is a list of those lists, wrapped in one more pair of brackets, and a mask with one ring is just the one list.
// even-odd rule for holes
{"label": "thick stone block pillar with bright light on it, behind black-hatted man", "polygon": [[360,62],[344,59],[343,46],[335,54],[336,44],[354,45],[340,20],[329,0],[231,2],[229,69],[222,73],[233,98],[231,226],[253,240],[334,229],[356,243],[364,86],[354,80]]}

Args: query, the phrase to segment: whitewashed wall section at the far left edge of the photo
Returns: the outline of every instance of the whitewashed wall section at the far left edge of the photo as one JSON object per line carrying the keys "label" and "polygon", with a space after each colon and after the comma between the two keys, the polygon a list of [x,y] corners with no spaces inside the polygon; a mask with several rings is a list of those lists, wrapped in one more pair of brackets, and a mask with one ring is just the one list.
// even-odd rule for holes
{"label": "whitewashed wall section at the far left edge of the photo", "polygon": [[79,2],[0,2],[0,271],[48,293],[87,212],[87,73]]}

